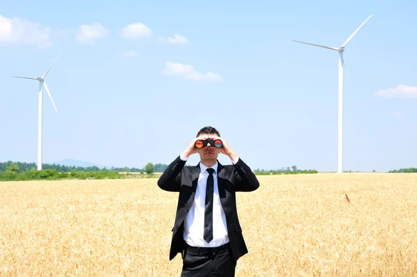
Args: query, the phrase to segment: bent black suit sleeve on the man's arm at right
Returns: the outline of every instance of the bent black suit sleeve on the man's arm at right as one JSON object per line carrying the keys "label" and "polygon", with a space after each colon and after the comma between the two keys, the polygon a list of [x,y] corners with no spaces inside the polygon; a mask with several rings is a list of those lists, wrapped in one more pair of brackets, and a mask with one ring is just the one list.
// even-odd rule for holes
{"label": "bent black suit sleeve on the man's arm at right", "polygon": [[236,191],[254,191],[259,188],[259,181],[247,164],[238,159],[234,164],[235,188]]}

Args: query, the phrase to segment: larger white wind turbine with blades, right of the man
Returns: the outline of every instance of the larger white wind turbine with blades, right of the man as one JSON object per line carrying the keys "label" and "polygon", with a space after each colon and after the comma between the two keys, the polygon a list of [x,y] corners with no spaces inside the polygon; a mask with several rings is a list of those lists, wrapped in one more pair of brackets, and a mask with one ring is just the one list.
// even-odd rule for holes
{"label": "larger white wind turbine with blades, right of the man", "polygon": [[[370,17],[372,17],[372,15],[370,15]],[[311,43],[293,40],[295,42],[304,43],[306,45],[318,46],[318,47],[322,47],[322,48],[326,48],[326,49],[330,49],[330,50],[334,50],[338,52],[338,55],[339,55],[339,59],[338,59],[338,146],[337,146],[337,172],[338,173],[343,172],[343,68],[345,68],[345,61],[343,60],[343,51],[345,51],[345,46],[347,45],[347,42],[349,42],[353,38],[355,33],[357,33],[359,29],[361,29],[363,24],[365,24],[368,21],[368,19],[370,19],[370,17],[368,17],[361,24],[361,26],[359,26],[359,28],[356,29],[356,31],[354,31],[352,35],[350,35],[350,37],[347,38],[345,42],[343,42],[343,45],[341,45],[341,47],[338,47],[338,48],[328,47],[324,45],[313,45]]]}

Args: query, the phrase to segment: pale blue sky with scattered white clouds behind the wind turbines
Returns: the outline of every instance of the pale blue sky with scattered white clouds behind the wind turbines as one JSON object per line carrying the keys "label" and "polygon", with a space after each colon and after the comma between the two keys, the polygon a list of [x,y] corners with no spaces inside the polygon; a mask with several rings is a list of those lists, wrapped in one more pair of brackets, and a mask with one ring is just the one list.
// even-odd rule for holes
{"label": "pale blue sky with scattered white clouds behind the wind turbines", "polygon": [[[216,127],[252,169],[416,167],[415,1],[6,1],[0,7],[1,161],[169,164]],[[227,3],[226,3],[227,2]],[[193,155],[188,163],[195,164]],[[227,157],[219,157],[230,164]]]}

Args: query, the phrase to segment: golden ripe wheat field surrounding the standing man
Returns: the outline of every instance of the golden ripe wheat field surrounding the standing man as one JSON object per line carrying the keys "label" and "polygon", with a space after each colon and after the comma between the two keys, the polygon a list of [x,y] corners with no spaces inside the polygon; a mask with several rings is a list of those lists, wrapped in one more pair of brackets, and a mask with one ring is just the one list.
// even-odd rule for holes
{"label": "golden ripe wheat field surrounding the standing man", "polygon": [[[259,176],[236,276],[416,276],[417,175]],[[0,276],[179,276],[157,179],[0,182]]]}

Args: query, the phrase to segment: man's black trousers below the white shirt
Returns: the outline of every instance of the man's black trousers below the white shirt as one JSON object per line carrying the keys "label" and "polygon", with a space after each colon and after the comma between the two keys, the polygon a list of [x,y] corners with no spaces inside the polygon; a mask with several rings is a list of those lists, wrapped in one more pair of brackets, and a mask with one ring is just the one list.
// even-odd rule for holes
{"label": "man's black trousers below the white shirt", "polygon": [[183,251],[181,277],[235,276],[236,260],[229,244],[218,247],[186,246]]}

